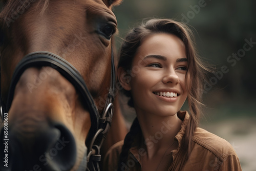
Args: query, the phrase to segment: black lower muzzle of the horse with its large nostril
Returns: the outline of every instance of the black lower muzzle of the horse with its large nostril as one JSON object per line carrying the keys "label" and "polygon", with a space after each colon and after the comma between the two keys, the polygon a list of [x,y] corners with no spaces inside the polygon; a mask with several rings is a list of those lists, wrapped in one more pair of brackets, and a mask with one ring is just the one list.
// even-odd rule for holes
{"label": "black lower muzzle of the horse with its large nostril", "polygon": [[52,125],[30,139],[9,133],[8,167],[4,167],[3,129],[0,132],[0,170],[70,170],[76,162],[75,139],[65,125]]}

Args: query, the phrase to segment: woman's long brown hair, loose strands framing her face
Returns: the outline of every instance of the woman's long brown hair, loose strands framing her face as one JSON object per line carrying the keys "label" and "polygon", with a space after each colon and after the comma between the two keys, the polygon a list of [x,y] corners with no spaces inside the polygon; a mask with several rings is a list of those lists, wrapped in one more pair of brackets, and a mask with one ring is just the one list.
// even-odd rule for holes
{"label": "woman's long brown hair, loose strands framing her face", "polygon": [[[154,33],[167,33],[178,36],[185,45],[186,56],[188,60],[188,68],[186,73],[186,89],[188,92],[187,102],[190,110],[190,117],[187,124],[187,129],[184,138],[181,142],[181,147],[178,153],[177,160],[181,160],[184,165],[188,156],[190,155],[191,141],[196,128],[198,127],[199,116],[201,114],[201,96],[203,94],[203,80],[208,69],[200,60],[195,48],[195,40],[193,32],[183,23],[176,22],[172,19],[150,19],[143,21],[139,27],[133,28],[127,34],[120,50],[120,59],[118,68],[122,67],[127,71],[129,76],[132,70],[133,58],[137,52],[138,47],[143,43],[143,40]],[[189,78],[189,79],[188,79]],[[189,82],[188,82],[189,80]],[[133,106],[133,99],[130,91],[122,90],[123,93],[130,97],[129,105]],[[124,145],[119,158],[118,170],[121,170],[122,163],[126,163],[129,149],[132,146],[132,140],[140,130],[139,122],[135,119],[131,126],[131,131],[124,139]],[[135,131],[137,130],[137,131]]]}

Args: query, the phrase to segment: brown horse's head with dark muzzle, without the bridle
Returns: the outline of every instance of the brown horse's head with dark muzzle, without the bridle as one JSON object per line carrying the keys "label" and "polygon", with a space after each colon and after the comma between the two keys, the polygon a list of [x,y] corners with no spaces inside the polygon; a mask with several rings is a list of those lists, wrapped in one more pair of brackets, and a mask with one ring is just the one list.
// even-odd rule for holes
{"label": "brown horse's head with dark muzzle, without the bridle", "polygon": [[[117,31],[111,7],[120,1],[1,1],[3,102],[8,101],[20,60],[47,51],[74,66],[101,114],[110,85],[112,35]],[[31,66],[14,88],[10,109],[3,114],[8,124],[1,126],[0,170],[85,170],[85,142],[93,123],[73,83],[54,67]]]}

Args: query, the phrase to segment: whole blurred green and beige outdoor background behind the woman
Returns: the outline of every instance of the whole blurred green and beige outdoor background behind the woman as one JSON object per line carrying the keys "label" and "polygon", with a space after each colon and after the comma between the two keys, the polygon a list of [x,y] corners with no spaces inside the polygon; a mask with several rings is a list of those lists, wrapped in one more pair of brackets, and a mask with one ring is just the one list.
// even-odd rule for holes
{"label": "whole blurred green and beige outdoor background behind the woman", "polygon": [[[173,18],[190,26],[200,56],[216,66],[205,80],[200,126],[234,147],[244,171],[256,170],[255,7],[253,0],[123,0],[113,10],[118,49],[127,31],[145,17]],[[125,101],[121,104],[129,125],[135,115]]]}

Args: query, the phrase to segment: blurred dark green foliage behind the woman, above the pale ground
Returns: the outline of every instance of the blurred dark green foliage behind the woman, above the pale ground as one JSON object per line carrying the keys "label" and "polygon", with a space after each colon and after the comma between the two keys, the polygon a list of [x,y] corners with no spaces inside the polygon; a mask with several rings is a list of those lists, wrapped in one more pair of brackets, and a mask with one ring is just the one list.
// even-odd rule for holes
{"label": "blurred dark green foliage behind the woman, above the pale ground", "polygon": [[[207,112],[216,117],[252,116],[256,104],[255,6],[253,0],[124,0],[113,9],[119,29],[116,45],[119,48],[127,31],[143,18],[173,18],[187,23],[195,33],[200,56],[216,66],[216,73],[205,80],[211,82],[205,85]],[[248,41],[254,45],[246,45],[250,48],[246,51]],[[237,58],[232,57],[236,54]]]}

